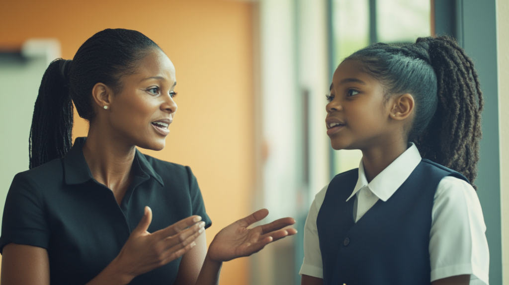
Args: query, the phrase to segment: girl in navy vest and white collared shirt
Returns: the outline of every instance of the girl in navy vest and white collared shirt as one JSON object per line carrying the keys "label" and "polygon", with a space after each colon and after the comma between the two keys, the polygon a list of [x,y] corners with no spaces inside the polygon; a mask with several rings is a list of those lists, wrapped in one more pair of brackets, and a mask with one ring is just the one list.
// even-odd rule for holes
{"label": "girl in navy vest and white collared shirt", "polygon": [[306,219],[303,285],[488,284],[476,177],[482,92],[447,37],[347,57],[327,96],[334,149],[360,149]]}

